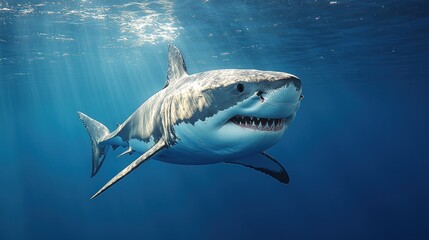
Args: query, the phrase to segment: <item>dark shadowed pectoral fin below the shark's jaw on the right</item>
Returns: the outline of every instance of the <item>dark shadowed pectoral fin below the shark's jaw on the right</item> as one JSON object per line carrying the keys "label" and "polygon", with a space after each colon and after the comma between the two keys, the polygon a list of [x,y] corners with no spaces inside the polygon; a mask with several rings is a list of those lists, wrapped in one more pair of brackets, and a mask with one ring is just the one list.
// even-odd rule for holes
{"label": "dark shadowed pectoral fin below the shark's jaw on the right", "polygon": [[289,175],[287,174],[284,167],[277,160],[264,152],[252,155],[250,157],[228,161],[227,163],[240,164],[249,168],[253,168],[270,175],[282,183],[289,183]]}

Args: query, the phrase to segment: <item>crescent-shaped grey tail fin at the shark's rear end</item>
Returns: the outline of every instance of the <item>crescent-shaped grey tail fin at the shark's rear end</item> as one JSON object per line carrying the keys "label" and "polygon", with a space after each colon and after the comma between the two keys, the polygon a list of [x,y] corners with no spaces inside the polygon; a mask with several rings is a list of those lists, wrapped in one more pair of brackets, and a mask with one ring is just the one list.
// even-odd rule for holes
{"label": "crescent-shaped grey tail fin at the shark's rear end", "polygon": [[83,125],[88,131],[89,137],[91,138],[92,144],[92,173],[91,177],[97,174],[101,165],[106,158],[109,145],[100,145],[100,142],[109,135],[109,129],[102,123],[88,117],[84,113],[77,112],[79,119],[82,120]]}

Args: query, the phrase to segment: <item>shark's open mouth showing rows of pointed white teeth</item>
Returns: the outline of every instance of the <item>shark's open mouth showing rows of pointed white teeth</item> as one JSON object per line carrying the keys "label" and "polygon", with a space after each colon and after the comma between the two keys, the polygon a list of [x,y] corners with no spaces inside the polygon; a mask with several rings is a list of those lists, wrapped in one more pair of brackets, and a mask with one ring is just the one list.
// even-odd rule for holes
{"label": "shark's open mouth showing rows of pointed white teeth", "polygon": [[234,116],[229,121],[244,128],[275,132],[283,129],[286,119]]}

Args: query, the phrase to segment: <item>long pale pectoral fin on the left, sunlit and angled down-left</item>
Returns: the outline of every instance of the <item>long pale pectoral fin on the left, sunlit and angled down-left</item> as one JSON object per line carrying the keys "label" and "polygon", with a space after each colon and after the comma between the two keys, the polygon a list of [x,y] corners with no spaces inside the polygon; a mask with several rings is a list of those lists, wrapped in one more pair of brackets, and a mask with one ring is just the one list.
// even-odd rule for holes
{"label": "long pale pectoral fin on the left, sunlit and angled down-left", "polygon": [[166,147],[165,141],[163,139],[160,139],[155,145],[152,146],[152,148],[147,150],[147,152],[143,153],[143,155],[141,155],[139,158],[134,160],[134,162],[132,162],[130,165],[128,165],[126,168],[120,171],[115,177],[113,177],[109,182],[107,182],[100,190],[98,190],[97,193],[94,194],[94,196],[91,197],[91,199],[97,197],[102,192],[106,191],[113,184],[121,180],[128,173],[136,169],[138,166],[140,166],[140,164],[150,159],[153,155],[155,155],[157,152],[159,152],[165,147]]}

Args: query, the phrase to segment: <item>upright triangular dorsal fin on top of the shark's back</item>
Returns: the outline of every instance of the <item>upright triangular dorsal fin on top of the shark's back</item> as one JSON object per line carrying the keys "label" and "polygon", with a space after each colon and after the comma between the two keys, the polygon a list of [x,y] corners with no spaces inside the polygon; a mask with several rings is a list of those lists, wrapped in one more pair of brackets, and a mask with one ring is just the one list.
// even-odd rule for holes
{"label": "upright triangular dorsal fin on top of the shark's back", "polygon": [[171,82],[186,75],[188,75],[188,73],[182,53],[180,53],[180,50],[177,47],[168,45],[168,71],[167,81],[165,82],[164,88]]}

